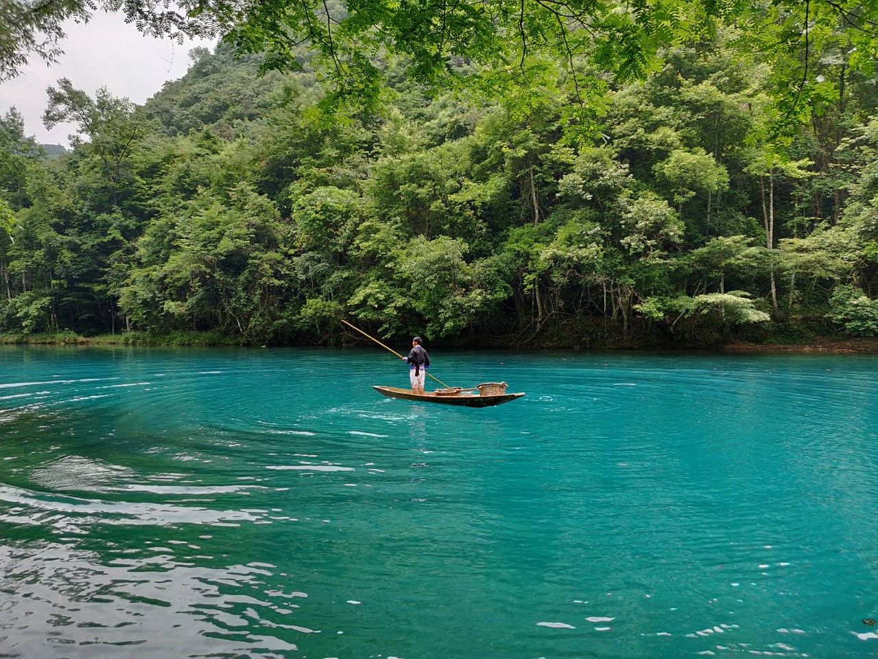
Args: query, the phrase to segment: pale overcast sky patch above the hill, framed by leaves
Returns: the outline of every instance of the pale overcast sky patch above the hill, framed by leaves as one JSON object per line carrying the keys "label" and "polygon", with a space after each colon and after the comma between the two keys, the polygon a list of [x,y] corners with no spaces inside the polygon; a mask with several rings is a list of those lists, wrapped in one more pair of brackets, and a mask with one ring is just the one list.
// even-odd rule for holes
{"label": "pale overcast sky patch above the hill, framed by leaves", "polygon": [[134,25],[126,25],[119,14],[99,11],[87,25],[67,25],[67,39],[57,64],[47,67],[32,57],[21,76],[0,83],[0,112],[12,105],[25,115],[27,134],[37,141],[68,146],[69,125],[43,127],[46,88],[58,78],[68,77],[78,89],[94,94],[106,87],[114,96],[143,103],[162,89],[162,84],[183,76],[189,67],[189,51],[196,46],[212,47],[208,41],[187,41],[183,46],[171,40],[145,37]]}

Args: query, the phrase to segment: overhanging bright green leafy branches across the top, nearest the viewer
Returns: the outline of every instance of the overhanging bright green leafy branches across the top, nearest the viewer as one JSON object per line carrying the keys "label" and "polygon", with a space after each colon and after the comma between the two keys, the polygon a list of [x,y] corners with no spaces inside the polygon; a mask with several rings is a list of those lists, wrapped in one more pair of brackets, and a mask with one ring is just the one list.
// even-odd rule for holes
{"label": "overhanging bright green leafy branches across the top, nearest the viewer", "polygon": [[[0,81],[32,54],[54,61],[64,22],[98,9],[119,11],[148,34],[219,37],[239,54],[261,54],[263,70],[302,69],[305,44],[332,82],[325,105],[361,109],[381,105],[386,62],[402,58],[418,83],[482,91],[508,81],[532,90],[546,62],[563,62],[583,111],[606,74],[642,78],[660,69],[664,47],[732,28],[777,65],[768,87],[780,111],[775,128],[786,129],[830,91],[817,80],[814,54],[840,55],[868,75],[878,52],[873,0],[0,0]],[[582,57],[595,69],[579,67]],[[588,112],[573,105],[567,114],[581,122]]]}

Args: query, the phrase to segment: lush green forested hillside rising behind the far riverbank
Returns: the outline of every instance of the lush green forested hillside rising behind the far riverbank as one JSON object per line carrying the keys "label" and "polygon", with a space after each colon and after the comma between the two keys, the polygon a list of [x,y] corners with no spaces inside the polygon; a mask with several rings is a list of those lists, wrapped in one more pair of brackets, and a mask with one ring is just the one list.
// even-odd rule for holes
{"label": "lush green forested hillside rising behind the far riverbank", "polygon": [[0,331],[874,336],[878,79],[815,36],[806,98],[779,103],[803,62],[753,38],[661,48],[643,76],[546,56],[478,89],[388,57],[380,103],[347,109],[304,50],[261,75],[261,56],[197,49],[138,107],[61,80],[45,120],[74,123],[68,153],[0,119]]}

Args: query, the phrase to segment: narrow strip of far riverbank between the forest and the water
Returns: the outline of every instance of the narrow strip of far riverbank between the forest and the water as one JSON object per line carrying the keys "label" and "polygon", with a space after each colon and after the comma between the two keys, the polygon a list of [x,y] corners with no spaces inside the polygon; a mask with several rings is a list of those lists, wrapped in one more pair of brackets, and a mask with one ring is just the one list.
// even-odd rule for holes
{"label": "narrow strip of far riverbank between the forest and the water", "polygon": [[[346,342],[348,343],[348,342]],[[759,341],[743,341],[734,339],[728,344],[674,344],[667,342],[618,341],[602,340],[594,343],[586,341],[534,341],[528,345],[508,343],[494,337],[488,342],[490,347],[516,350],[607,350],[607,351],[650,351],[650,350],[704,350],[715,349],[729,352],[817,352],[817,353],[874,353],[878,354],[878,338],[841,338],[841,337],[788,337],[786,339]],[[169,334],[152,334],[150,332],[122,332],[119,334],[102,334],[96,337],[83,337],[76,332],[56,332],[44,334],[0,334],[0,345],[144,345],[144,346],[191,346],[191,347],[265,347],[262,344],[247,341],[243,337],[229,336],[220,332],[177,331]],[[358,344],[358,342],[357,342]],[[448,347],[472,347],[466,344],[449,344]],[[483,346],[484,347],[484,346]]]}

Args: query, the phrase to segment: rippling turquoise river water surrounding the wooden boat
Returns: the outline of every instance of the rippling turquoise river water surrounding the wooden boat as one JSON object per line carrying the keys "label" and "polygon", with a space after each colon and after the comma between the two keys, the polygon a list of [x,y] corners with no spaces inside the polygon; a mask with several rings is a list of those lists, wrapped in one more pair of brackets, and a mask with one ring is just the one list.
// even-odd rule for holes
{"label": "rippling turquoise river water surrounding the wooden boat", "polygon": [[0,656],[878,654],[878,358],[0,349]]}

